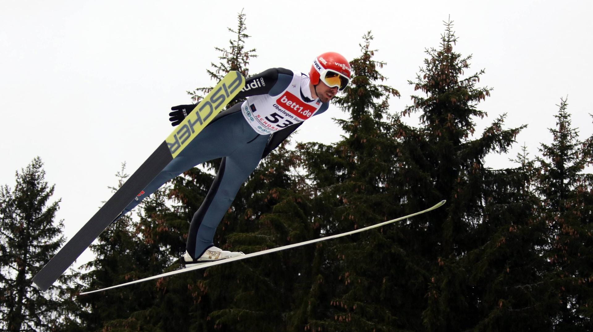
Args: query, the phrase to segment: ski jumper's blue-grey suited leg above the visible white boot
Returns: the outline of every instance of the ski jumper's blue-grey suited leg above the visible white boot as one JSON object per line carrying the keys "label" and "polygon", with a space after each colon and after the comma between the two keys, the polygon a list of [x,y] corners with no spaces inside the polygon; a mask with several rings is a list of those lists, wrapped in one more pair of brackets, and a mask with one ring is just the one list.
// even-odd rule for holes
{"label": "ski jumper's blue-grey suited leg above the visible white boot", "polygon": [[218,175],[202,205],[194,214],[187,237],[187,252],[194,258],[213,246],[216,227],[235,195],[262,159],[269,136],[259,136],[222,160]]}

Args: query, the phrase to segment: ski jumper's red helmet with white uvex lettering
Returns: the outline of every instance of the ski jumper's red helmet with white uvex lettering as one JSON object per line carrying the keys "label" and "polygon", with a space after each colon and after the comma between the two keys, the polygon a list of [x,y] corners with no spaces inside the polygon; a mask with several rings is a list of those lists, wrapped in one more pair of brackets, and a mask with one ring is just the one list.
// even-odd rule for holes
{"label": "ski jumper's red helmet with white uvex lettering", "polygon": [[313,60],[309,78],[313,85],[318,85],[322,80],[330,88],[337,86],[342,91],[350,82],[350,63],[340,53],[323,53]]}

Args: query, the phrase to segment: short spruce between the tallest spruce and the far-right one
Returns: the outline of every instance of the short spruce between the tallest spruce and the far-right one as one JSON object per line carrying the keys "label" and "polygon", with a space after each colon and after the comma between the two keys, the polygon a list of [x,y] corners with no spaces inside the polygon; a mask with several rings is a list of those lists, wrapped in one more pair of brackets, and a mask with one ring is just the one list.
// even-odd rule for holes
{"label": "short spruce between the tallest spruce and the far-right one", "polygon": [[[547,314],[555,296],[544,278],[547,269],[543,246],[546,223],[537,217],[540,201],[533,191],[537,174],[524,147],[516,169],[495,172],[496,183],[484,209],[484,222],[476,238],[484,243],[467,255],[466,270],[475,285],[479,331],[550,330]],[[489,238],[485,236],[489,235]]]}

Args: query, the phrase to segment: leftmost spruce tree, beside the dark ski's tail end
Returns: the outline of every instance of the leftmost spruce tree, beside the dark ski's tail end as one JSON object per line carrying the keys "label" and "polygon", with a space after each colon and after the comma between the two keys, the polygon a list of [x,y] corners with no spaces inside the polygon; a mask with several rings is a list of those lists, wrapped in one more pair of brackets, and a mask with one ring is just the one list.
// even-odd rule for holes
{"label": "leftmost spruce tree, beside the dark ski's tail end", "polygon": [[[62,221],[55,221],[58,201],[50,203],[55,185],[45,180],[39,157],[16,173],[16,185],[0,188],[0,328],[3,331],[58,330],[62,307],[60,283],[47,292],[31,278],[59,247]],[[62,276],[59,282],[65,282]]]}

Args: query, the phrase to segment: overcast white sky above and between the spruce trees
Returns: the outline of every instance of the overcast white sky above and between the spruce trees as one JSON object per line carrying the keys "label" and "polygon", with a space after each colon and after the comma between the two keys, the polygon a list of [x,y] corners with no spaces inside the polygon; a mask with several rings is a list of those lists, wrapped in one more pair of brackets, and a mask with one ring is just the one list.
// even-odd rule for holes
{"label": "overcast white sky above and between the spruce trees", "polygon": [[[525,144],[531,157],[550,143],[561,97],[568,96],[581,138],[593,133],[592,8],[589,1],[23,1],[0,0],[0,185],[42,157],[61,198],[58,218],[69,238],[116,185],[171,132],[171,106],[189,104],[187,90],[212,85],[205,70],[228,47],[237,13],[247,14],[247,47],[269,67],[308,72],[324,51],[352,59],[372,30],[376,60],[398,89],[393,112],[410,105],[424,50],[438,47],[451,15],[455,50],[473,54],[470,72],[486,69],[479,86],[493,87],[479,108],[480,130],[508,113],[506,128],[528,124],[506,167]],[[339,139],[330,108],[307,121],[296,141]],[[417,115],[412,115],[412,121]],[[479,131],[480,132],[480,131]],[[88,255],[88,254],[87,254]],[[81,257],[81,260],[84,260]],[[79,262],[81,262],[79,260]]]}

